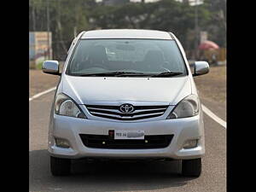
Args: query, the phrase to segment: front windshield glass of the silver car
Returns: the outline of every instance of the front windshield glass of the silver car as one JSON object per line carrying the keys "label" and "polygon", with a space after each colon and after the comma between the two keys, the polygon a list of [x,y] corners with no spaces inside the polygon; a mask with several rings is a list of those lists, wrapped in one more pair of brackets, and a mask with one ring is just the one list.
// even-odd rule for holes
{"label": "front windshield glass of the silver car", "polygon": [[187,71],[174,40],[81,39],[67,74],[166,77],[185,75]]}

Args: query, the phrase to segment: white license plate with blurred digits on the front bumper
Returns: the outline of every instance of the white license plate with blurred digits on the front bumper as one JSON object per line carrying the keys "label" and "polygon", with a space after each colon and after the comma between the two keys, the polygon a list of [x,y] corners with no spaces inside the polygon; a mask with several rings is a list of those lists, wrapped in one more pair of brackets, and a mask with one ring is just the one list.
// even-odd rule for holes
{"label": "white license plate with blurred digits on the front bumper", "polygon": [[144,139],[144,131],[115,130],[114,139]]}

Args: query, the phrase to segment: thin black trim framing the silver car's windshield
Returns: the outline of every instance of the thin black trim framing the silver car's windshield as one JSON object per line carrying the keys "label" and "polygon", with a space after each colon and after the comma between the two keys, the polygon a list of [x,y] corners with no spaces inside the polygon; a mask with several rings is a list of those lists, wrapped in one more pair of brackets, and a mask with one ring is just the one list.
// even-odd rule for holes
{"label": "thin black trim framing the silver car's windshield", "polygon": [[[168,32],[168,33],[169,33],[170,36],[172,37],[171,33],[170,33],[170,32]],[[81,37],[82,37],[82,36],[81,36]],[[74,55],[74,53],[75,53],[75,51],[76,51],[78,45],[80,44],[80,42],[83,41],[83,40],[86,41],[86,40],[96,40],[96,39],[141,39],[141,40],[166,40],[166,41],[174,41],[175,44],[177,45],[177,49],[178,49],[178,51],[179,51],[181,57],[183,58],[183,65],[184,65],[184,67],[185,67],[185,73],[183,73],[183,74],[181,74],[181,75],[178,75],[178,76],[173,76],[173,77],[181,77],[181,76],[187,76],[187,75],[189,75],[189,71],[188,71],[186,62],[185,62],[185,60],[184,60],[182,51],[181,51],[181,49],[179,48],[179,46],[178,46],[178,44],[177,44],[177,41],[176,41],[176,39],[175,39],[174,37],[172,37],[172,39],[164,39],[164,38],[79,38],[79,39],[77,40],[77,43],[75,44],[75,46],[74,46],[74,48],[73,48],[72,54],[71,54],[70,57],[69,57],[69,61],[68,61],[68,63],[67,63],[67,68],[66,68],[66,71],[65,71],[65,74],[66,74],[66,75],[69,75],[69,76],[73,76],[73,77],[74,77],[74,75],[72,75],[71,73],[69,73],[69,67],[70,67],[70,63],[71,63],[71,61],[72,61],[72,59],[73,59],[73,55]],[[75,77],[77,77],[77,76],[75,76]],[[91,76],[91,77],[92,77],[92,76]],[[106,76],[106,77],[108,77],[108,76]],[[143,78],[145,78],[145,76],[144,76]],[[154,78],[155,78],[155,77],[154,77]],[[157,78],[166,78],[166,77],[157,77]],[[172,77],[168,77],[168,78],[172,78]]]}

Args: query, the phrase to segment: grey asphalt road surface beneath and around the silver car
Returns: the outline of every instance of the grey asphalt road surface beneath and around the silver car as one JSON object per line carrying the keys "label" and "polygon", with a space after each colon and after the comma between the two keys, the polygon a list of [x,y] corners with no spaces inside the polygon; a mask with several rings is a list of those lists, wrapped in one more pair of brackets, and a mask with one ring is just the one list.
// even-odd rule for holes
{"label": "grey asphalt road surface beneath and around the silver car", "polygon": [[[47,142],[53,97],[54,92],[50,92],[30,102],[30,191],[226,191],[226,130],[207,115],[204,116],[206,155],[199,178],[182,177],[179,161],[88,163],[79,160],[73,162],[71,176],[51,176]],[[207,100],[203,104],[207,106]],[[219,110],[212,111],[218,115]]]}

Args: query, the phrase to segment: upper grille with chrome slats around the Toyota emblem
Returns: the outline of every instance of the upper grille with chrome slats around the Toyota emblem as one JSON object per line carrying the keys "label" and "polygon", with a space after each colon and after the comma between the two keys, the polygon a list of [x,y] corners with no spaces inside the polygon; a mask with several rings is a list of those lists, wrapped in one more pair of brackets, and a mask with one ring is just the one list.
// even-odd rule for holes
{"label": "upper grille with chrome slats around the Toyota emblem", "polygon": [[90,114],[107,119],[138,120],[159,117],[166,112],[165,106],[133,106],[132,113],[122,113],[119,106],[86,105]]}

